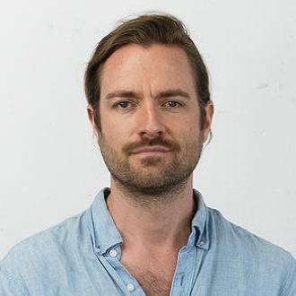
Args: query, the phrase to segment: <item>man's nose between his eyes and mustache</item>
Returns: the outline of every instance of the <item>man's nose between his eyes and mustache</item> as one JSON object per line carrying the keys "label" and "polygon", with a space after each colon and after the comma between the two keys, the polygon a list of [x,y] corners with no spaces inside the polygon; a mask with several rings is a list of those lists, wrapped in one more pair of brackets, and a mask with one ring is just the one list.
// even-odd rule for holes
{"label": "man's nose between his eyes and mustache", "polygon": [[145,104],[139,113],[138,131],[141,137],[149,139],[158,137],[165,132],[161,112],[153,103]]}

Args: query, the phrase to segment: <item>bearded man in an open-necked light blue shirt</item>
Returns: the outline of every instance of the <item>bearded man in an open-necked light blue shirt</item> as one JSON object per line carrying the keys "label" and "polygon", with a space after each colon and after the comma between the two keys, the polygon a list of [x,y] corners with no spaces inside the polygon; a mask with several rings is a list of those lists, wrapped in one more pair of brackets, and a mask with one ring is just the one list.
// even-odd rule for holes
{"label": "bearded man in an open-necked light blue shirt", "polygon": [[109,33],[85,90],[111,187],[13,248],[0,265],[1,295],[296,295],[292,256],[193,189],[213,102],[178,19],[143,15]]}

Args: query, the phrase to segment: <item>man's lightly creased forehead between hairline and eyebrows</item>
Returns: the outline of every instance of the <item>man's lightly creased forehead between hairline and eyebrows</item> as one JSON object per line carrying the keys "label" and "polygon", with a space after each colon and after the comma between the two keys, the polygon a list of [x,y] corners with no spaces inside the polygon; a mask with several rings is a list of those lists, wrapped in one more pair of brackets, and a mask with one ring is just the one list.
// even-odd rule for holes
{"label": "man's lightly creased forehead between hairline and eyebrows", "polygon": [[178,46],[127,45],[105,62],[100,75],[101,93],[150,86],[152,90],[179,88],[195,91],[194,75],[186,52]]}

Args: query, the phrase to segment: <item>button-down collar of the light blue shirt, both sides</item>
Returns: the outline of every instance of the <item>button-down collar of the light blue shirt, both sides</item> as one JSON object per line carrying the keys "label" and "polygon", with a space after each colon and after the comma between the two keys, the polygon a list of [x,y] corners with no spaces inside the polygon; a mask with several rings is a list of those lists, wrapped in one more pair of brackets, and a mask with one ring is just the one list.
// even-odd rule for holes
{"label": "button-down collar of the light blue shirt, both sides", "polygon": [[[110,189],[108,187],[101,189],[88,210],[88,223],[93,247],[101,254],[106,253],[109,248],[114,248],[116,245],[123,243],[120,232],[106,205],[106,198],[109,196],[109,193]],[[203,196],[196,189],[193,190],[193,197],[196,200],[197,211],[191,223],[192,231],[187,245],[196,245],[197,248],[207,250],[209,248],[206,226],[207,209]]]}

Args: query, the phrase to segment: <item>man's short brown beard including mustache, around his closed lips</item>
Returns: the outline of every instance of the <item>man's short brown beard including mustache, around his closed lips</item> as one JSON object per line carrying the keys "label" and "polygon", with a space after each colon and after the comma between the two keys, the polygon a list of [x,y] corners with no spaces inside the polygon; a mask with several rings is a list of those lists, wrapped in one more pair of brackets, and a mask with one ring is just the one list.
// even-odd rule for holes
{"label": "man's short brown beard including mustache, around his closed lips", "polygon": [[[106,166],[116,182],[128,196],[151,196],[157,201],[158,196],[171,196],[178,193],[187,185],[193,170],[200,159],[203,149],[202,133],[183,142],[183,146],[173,141],[164,140],[162,136],[153,139],[143,138],[140,142],[125,144],[121,152],[116,152],[106,141],[105,136],[99,135],[100,152]],[[169,155],[146,156],[132,159],[135,149],[147,146],[162,146],[169,148]],[[147,202],[147,201],[146,201]]]}

